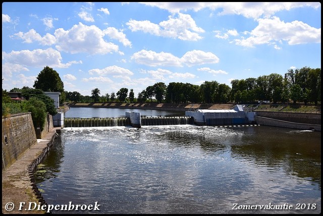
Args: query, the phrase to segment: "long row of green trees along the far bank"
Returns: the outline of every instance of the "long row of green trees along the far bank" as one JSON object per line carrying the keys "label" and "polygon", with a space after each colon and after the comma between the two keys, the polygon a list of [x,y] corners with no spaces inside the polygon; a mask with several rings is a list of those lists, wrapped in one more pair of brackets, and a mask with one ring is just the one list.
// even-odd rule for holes
{"label": "long row of green trees along the far bank", "polygon": [[201,85],[190,83],[163,82],[155,83],[134,97],[133,89],[128,94],[127,88],[121,88],[117,93],[100,95],[95,88],[91,96],[82,96],[78,92],[65,92],[66,101],[82,103],[257,103],[270,101],[272,103],[320,102],[321,69],[302,67],[289,69],[285,76],[270,74],[258,78],[232,80],[232,87],[217,81],[205,81]]}

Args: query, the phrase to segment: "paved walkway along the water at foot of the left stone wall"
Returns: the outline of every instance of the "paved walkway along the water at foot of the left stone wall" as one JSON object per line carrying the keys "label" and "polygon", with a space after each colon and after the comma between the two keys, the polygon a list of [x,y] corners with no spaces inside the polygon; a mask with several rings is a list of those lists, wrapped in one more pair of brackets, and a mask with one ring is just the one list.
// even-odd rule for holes
{"label": "paved walkway along the water at foot of the left stone wall", "polygon": [[[2,213],[44,213],[44,211],[37,210],[37,208],[36,210],[28,210],[29,204],[31,204],[31,209],[34,208],[34,205],[39,204],[32,189],[28,166],[42,153],[48,143],[55,139],[57,129],[61,129],[61,127],[52,128],[42,139],[38,139],[37,144],[27,150],[21,158],[5,171],[2,171]],[[25,205],[19,210],[23,202],[25,202]],[[32,202],[35,202],[35,204]],[[14,204],[14,208],[8,211],[6,205],[8,208],[12,208],[12,203]]]}

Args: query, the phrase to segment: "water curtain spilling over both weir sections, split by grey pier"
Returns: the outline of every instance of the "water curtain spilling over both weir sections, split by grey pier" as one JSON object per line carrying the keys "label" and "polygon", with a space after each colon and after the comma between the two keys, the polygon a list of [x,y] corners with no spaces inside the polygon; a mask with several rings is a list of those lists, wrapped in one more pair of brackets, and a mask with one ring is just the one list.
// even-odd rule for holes
{"label": "water curtain spilling over both weir sections, split by grey pier", "polygon": [[[141,117],[141,125],[179,125],[194,124],[193,117]],[[130,118],[64,118],[64,127],[110,127],[110,126],[131,126]]]}

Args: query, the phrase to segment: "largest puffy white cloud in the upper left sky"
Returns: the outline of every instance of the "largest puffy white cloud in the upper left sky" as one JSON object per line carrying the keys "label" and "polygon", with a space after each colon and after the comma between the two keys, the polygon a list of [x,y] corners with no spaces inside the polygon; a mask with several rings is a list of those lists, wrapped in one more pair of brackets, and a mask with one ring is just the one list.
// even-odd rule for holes
{"label": "largest puffy white cloud in the upper left sky", "polygon": [[103,40],[105,35],[98,27],[86,26],[82,23],[74,25],[70,30],[60,28],[55,31],[56,48],[70,53],[106,54],[118,52],[118,45]]}

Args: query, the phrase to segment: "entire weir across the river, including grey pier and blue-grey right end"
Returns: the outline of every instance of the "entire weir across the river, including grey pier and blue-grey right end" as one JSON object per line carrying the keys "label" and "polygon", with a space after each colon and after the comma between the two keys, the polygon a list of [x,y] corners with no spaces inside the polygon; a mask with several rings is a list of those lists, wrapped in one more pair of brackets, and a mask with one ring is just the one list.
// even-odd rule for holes
{"label": "entire weir across the river, including grey pier and blue-grey right end", "polygon": [[64,118],[64,127],[107,127],[107,126],[141,126],[153,125],[235,125],[254,123],[255,112],[245,112],[243,105],[233,109],[197,109],[186,111],[185,116],[142,117],[140,112],[126,112],[125,117],[109,118]]}

